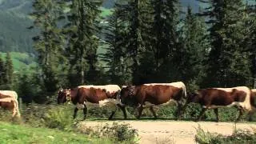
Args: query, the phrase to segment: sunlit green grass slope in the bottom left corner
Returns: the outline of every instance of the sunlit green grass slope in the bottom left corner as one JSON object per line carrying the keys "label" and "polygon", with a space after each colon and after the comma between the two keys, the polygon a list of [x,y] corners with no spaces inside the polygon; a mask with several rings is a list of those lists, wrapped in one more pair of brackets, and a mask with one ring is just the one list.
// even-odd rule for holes
{"label": "sunlit green grass slope in the bottom left corner", "polygon": [[12,143],[97,143],[85,134],[76,134],[61,130],[33,128],[0,122],[0,139],[2,144]]}

